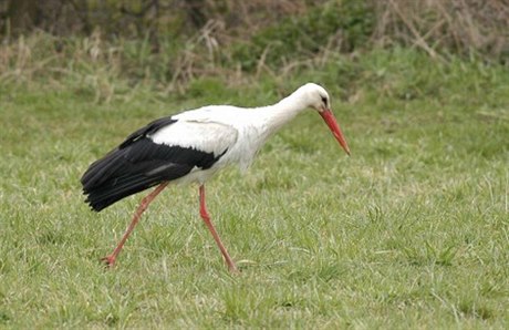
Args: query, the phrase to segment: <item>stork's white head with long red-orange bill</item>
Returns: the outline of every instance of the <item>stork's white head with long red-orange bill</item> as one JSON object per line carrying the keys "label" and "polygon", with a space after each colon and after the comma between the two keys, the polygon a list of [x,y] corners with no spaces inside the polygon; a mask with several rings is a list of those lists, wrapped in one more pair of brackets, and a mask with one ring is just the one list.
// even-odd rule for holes
{"label": "stork's white head with long red-orange bill", "polygon": [[314,83],[307,83],[299,90],[302,90],[307,105],[318,111],[318,113],[328,124],[329,128],[331,128],[332,134],[337,140],[340,145],[343,147],[346,154],[350,155],[349,145],[344,138],[343,133],[341,132],[340,125],[337,124],[334,114],[332,113],[331,99],[329,97],[329,93],[325,91],[325,89]]}

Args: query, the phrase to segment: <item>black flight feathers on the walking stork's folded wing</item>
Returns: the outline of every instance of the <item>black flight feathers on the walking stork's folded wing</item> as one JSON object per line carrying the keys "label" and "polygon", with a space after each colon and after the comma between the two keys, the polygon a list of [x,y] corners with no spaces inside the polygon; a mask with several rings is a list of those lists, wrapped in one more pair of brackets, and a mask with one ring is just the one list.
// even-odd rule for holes
{"label": "black flight feathers on the walking stork's folded wing", "polygon": [[216,156],[190,147],[157,144],[147,137],[175,122],[170,117],[152,122],[90,165],[81,178],[85,202],[100,212],[124,197],[183,177],[195,166],[210,168],[226,153]]}

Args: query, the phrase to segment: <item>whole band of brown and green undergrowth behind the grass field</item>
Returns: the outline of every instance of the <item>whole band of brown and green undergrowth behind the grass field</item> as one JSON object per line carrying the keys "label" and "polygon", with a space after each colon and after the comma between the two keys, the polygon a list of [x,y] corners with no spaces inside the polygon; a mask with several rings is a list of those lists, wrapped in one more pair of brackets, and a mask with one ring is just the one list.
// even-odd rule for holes
{"label": "whole band of brown and green undergrowth behind the grass field", "polygon": [[508,63],[509,1],[6,0],[0,33],[0,83],[66,76],[108,91],[123,76],[168,91],[197,76],[284,76],[375,47]]}

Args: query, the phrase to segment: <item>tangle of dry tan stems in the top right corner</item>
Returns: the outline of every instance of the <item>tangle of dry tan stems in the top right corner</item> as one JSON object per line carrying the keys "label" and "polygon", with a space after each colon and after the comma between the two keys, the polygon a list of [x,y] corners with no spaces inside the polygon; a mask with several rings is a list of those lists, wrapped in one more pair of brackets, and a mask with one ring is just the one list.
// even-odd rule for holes
{"label": "tangle of dry tan stems in the top right corner", "polygon": [[374,40],[491,58],[509,56],[509,2],[506,0],[387,0],[376,2]]}

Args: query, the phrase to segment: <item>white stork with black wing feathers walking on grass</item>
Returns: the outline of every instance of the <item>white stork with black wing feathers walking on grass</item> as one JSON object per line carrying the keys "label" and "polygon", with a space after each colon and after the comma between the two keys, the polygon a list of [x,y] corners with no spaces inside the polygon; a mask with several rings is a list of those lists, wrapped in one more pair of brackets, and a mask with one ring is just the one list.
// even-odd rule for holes
{"label": "white stork with black wing feathers walking on grass", "polygon": [[267,138],[305,109],[323,117],[350,155],[346,141],[331,111],[328,92],[308,83],[280,102],[254,109],[209,105],[156,120],[127,136],[116,148],[90,165],[81,178],[86,203],[103,208],[124,197],[157,186],[146,196],[115,250],[103,258],[112,267],[142,213],[169,184],[199,185],[200,216],[214,236],[228,268],[237,271],[221,243],[205,204],[205,182],[218,169],[238,164],[246,171]]}

